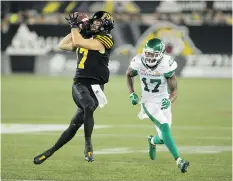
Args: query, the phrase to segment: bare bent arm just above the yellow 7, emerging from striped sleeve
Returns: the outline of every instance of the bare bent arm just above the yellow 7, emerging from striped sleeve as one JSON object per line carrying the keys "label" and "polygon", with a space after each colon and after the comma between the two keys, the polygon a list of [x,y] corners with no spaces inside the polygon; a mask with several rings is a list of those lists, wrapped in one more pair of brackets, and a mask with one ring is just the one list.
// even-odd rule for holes
{"label": "bare bent arm just above the yellow 7, emerging from striped sleeve", "polygon": [[72,28],[71,34],[73,46],[75,48],[81,47],[89,50],[98,50],[102,52],[105,50],[104,45],[100,43],[98,40],[83,38],[77,28]]}

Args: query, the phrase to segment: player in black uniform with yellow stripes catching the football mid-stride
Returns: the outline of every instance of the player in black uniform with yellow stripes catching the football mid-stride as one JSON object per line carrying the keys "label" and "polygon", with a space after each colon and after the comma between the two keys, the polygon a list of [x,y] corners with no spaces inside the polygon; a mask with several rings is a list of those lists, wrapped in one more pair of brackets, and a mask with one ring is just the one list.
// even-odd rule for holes
{"label": "player in black uniform with yellow stripes catching the football mid-stride", "polygon": [[34,158],[34,164],[41,164],[53,155],[64,144],[70,141],[77,130],[84,124],[85,150],[84,158],[88,162],[94,161],[91,142],[94,127],[93,113],[99,105],[93,92],[92,85],[104,84],[109,79],[109,56],[113,47],[110,35],[114,28],[112,16],[105,11],[98,11],[92,15],[88,23],[83,23],[79,17],[82,13],[71,13],[67,18],[71,33],[59,43],[63,50],[76,50],[77,68],[72,86],[72,96],[77,105],[77,112],[71,120],[69,127],[62,133],[57,142],[47,151]]}

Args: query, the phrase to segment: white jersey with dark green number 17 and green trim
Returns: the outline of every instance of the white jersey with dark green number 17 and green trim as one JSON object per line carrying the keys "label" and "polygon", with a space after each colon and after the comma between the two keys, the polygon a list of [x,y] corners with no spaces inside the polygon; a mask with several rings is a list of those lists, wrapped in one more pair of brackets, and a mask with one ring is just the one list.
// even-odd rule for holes
{"label": "white jersey with dark green number 17 and green trim", "polygon": [[142,97],[141,102],[148,100],[161,102],[163,98],[169,97],[167,85],[168,77],[171,77],[177,63],[169,55],[164,55],[160,64],[155,69],[150,69],[142,61],[142,54],[136,55],[131,63],[130,68],[137,72],[141,81]]}

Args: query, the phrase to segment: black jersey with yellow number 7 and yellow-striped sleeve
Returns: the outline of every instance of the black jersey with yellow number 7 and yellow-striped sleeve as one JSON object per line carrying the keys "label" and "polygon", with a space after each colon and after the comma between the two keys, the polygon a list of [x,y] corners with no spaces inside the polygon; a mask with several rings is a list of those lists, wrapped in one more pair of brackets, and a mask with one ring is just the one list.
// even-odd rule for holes
{"label": "black jersey with yellow number 7 and yellow-striped sleeve", "polygon": [[105,84],[109,79],[108,63],[113,40],[111,35],[96,35],[93,38],[104,45],[105,52],[77,48],[77,68],[74,81],[83,84]]}

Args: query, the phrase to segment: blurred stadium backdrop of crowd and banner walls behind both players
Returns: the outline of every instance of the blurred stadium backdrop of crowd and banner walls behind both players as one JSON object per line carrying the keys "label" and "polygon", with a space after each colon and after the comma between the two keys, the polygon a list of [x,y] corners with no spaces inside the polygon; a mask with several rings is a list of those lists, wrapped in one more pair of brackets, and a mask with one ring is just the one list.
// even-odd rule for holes
{"label": "blurred stadium backdrop of crowd and banner walls behind both players", "polygon": [[112,74],[124,74],[145,42],[157,37],[179,63],[178,76],[231,77],[232,1],[176,0],[1,1],[2,74],[72,74],[75,54],[57,48],[70,32],[65,17],[100,10],[115,19]]}

